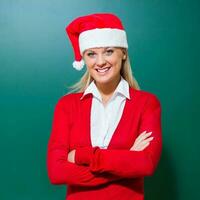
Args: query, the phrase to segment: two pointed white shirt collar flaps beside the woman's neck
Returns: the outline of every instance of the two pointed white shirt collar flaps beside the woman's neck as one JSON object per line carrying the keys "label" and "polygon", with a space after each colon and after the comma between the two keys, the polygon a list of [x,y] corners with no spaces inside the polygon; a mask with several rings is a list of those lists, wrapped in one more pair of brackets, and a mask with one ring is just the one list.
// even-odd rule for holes
{"label": "two pointed white shirt collar flaps beside the woman's neck", "polygon": [[[93,96],[95,96],[98,99],[102,99],[101,94],[94,82],[94,80],[89,84],[89,86],[84,91],[83,95],[80,99],[84,98],[85,95],[92,93]],[[130,99],[130,93],[129,93],[129,84],[128,82],[121,76],[121,80],[119,84],[117,85],[117,88],[114,91],[114,94],[122,94],[124,97]]]}

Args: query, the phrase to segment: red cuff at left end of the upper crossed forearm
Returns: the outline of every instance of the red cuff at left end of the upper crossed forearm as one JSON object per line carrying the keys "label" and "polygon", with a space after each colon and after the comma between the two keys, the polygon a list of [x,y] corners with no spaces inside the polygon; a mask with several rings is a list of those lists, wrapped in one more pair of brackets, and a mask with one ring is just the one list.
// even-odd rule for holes
{"label": "red cuff at left end of the upper crossed forearm", "polygon": [[75,163],[78,165],[89,165],[95,150],[99,147],[80,147],[75,152]]}

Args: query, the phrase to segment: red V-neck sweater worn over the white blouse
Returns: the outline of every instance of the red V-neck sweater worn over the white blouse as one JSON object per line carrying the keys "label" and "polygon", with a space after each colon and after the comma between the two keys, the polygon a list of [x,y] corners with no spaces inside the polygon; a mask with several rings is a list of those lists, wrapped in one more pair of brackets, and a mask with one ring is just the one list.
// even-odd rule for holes
{"label": "red V-neck sweater worn over the white blouse", "polygon": [[[122,117],[107,149],[92,147],[92,94],[68,94],[55,106],[47,168],[52,184],[66,184],[67,200],[143,200],[145,176],[153,174],[161,155],[161,105],[149,92],[129,87]],[[98,113],[97,113],[98,114]],[[143,131],[154,139],[143,151],[130,151]],[[67,155],[76,149],[75,163]]]}

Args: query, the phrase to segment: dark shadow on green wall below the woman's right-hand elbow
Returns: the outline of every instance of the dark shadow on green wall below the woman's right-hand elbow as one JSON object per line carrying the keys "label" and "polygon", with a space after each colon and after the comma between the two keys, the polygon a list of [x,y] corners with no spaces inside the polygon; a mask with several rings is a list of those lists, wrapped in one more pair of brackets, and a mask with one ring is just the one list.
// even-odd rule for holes
{"label": "dark shadow on green wall below the woman's right-hand elbow", "polygon": [[145,178],[145,200],[178,200],[176,185],[173,166],[163,146],[161,160],[155,174]]}

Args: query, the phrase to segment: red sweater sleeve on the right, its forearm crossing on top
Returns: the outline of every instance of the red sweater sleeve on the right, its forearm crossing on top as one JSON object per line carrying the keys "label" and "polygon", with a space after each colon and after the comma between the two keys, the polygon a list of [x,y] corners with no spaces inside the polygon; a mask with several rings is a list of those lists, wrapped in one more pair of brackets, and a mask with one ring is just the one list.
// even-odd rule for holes
{"label": "red sweater sleeve on the right, its forearm crossing on top", "polygon": [[77,149],[75,162],[88,165],[93,173],[109,172],[124,177],[151,176],[161,155],[161,105],[155,95],[147,100],[141,116],[139,130],[150,132],[154,139],[143,151],[126,149],[100,149],[98,147]]}

